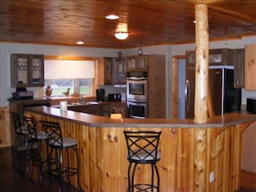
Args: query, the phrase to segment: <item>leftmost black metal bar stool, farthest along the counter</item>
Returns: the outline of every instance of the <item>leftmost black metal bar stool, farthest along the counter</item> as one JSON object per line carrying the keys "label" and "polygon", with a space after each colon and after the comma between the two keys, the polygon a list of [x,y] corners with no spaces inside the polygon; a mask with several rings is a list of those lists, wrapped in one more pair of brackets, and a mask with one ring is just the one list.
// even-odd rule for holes
{"label": "leftmost black metal bar stool, farthest along the counter", "polygon": [[[34,172],[33,165],[30,158],[28,145],[28,128],[22,125],[20,116],[16,112],[10,112],[13,125],[16,129],[15,139],[15,167],[17,170],[25,172],[25,176],[31,178]],[[23,159],[25,159],[25,166],[23,166]],[[25,168],[25,170],[22,170]]]}

